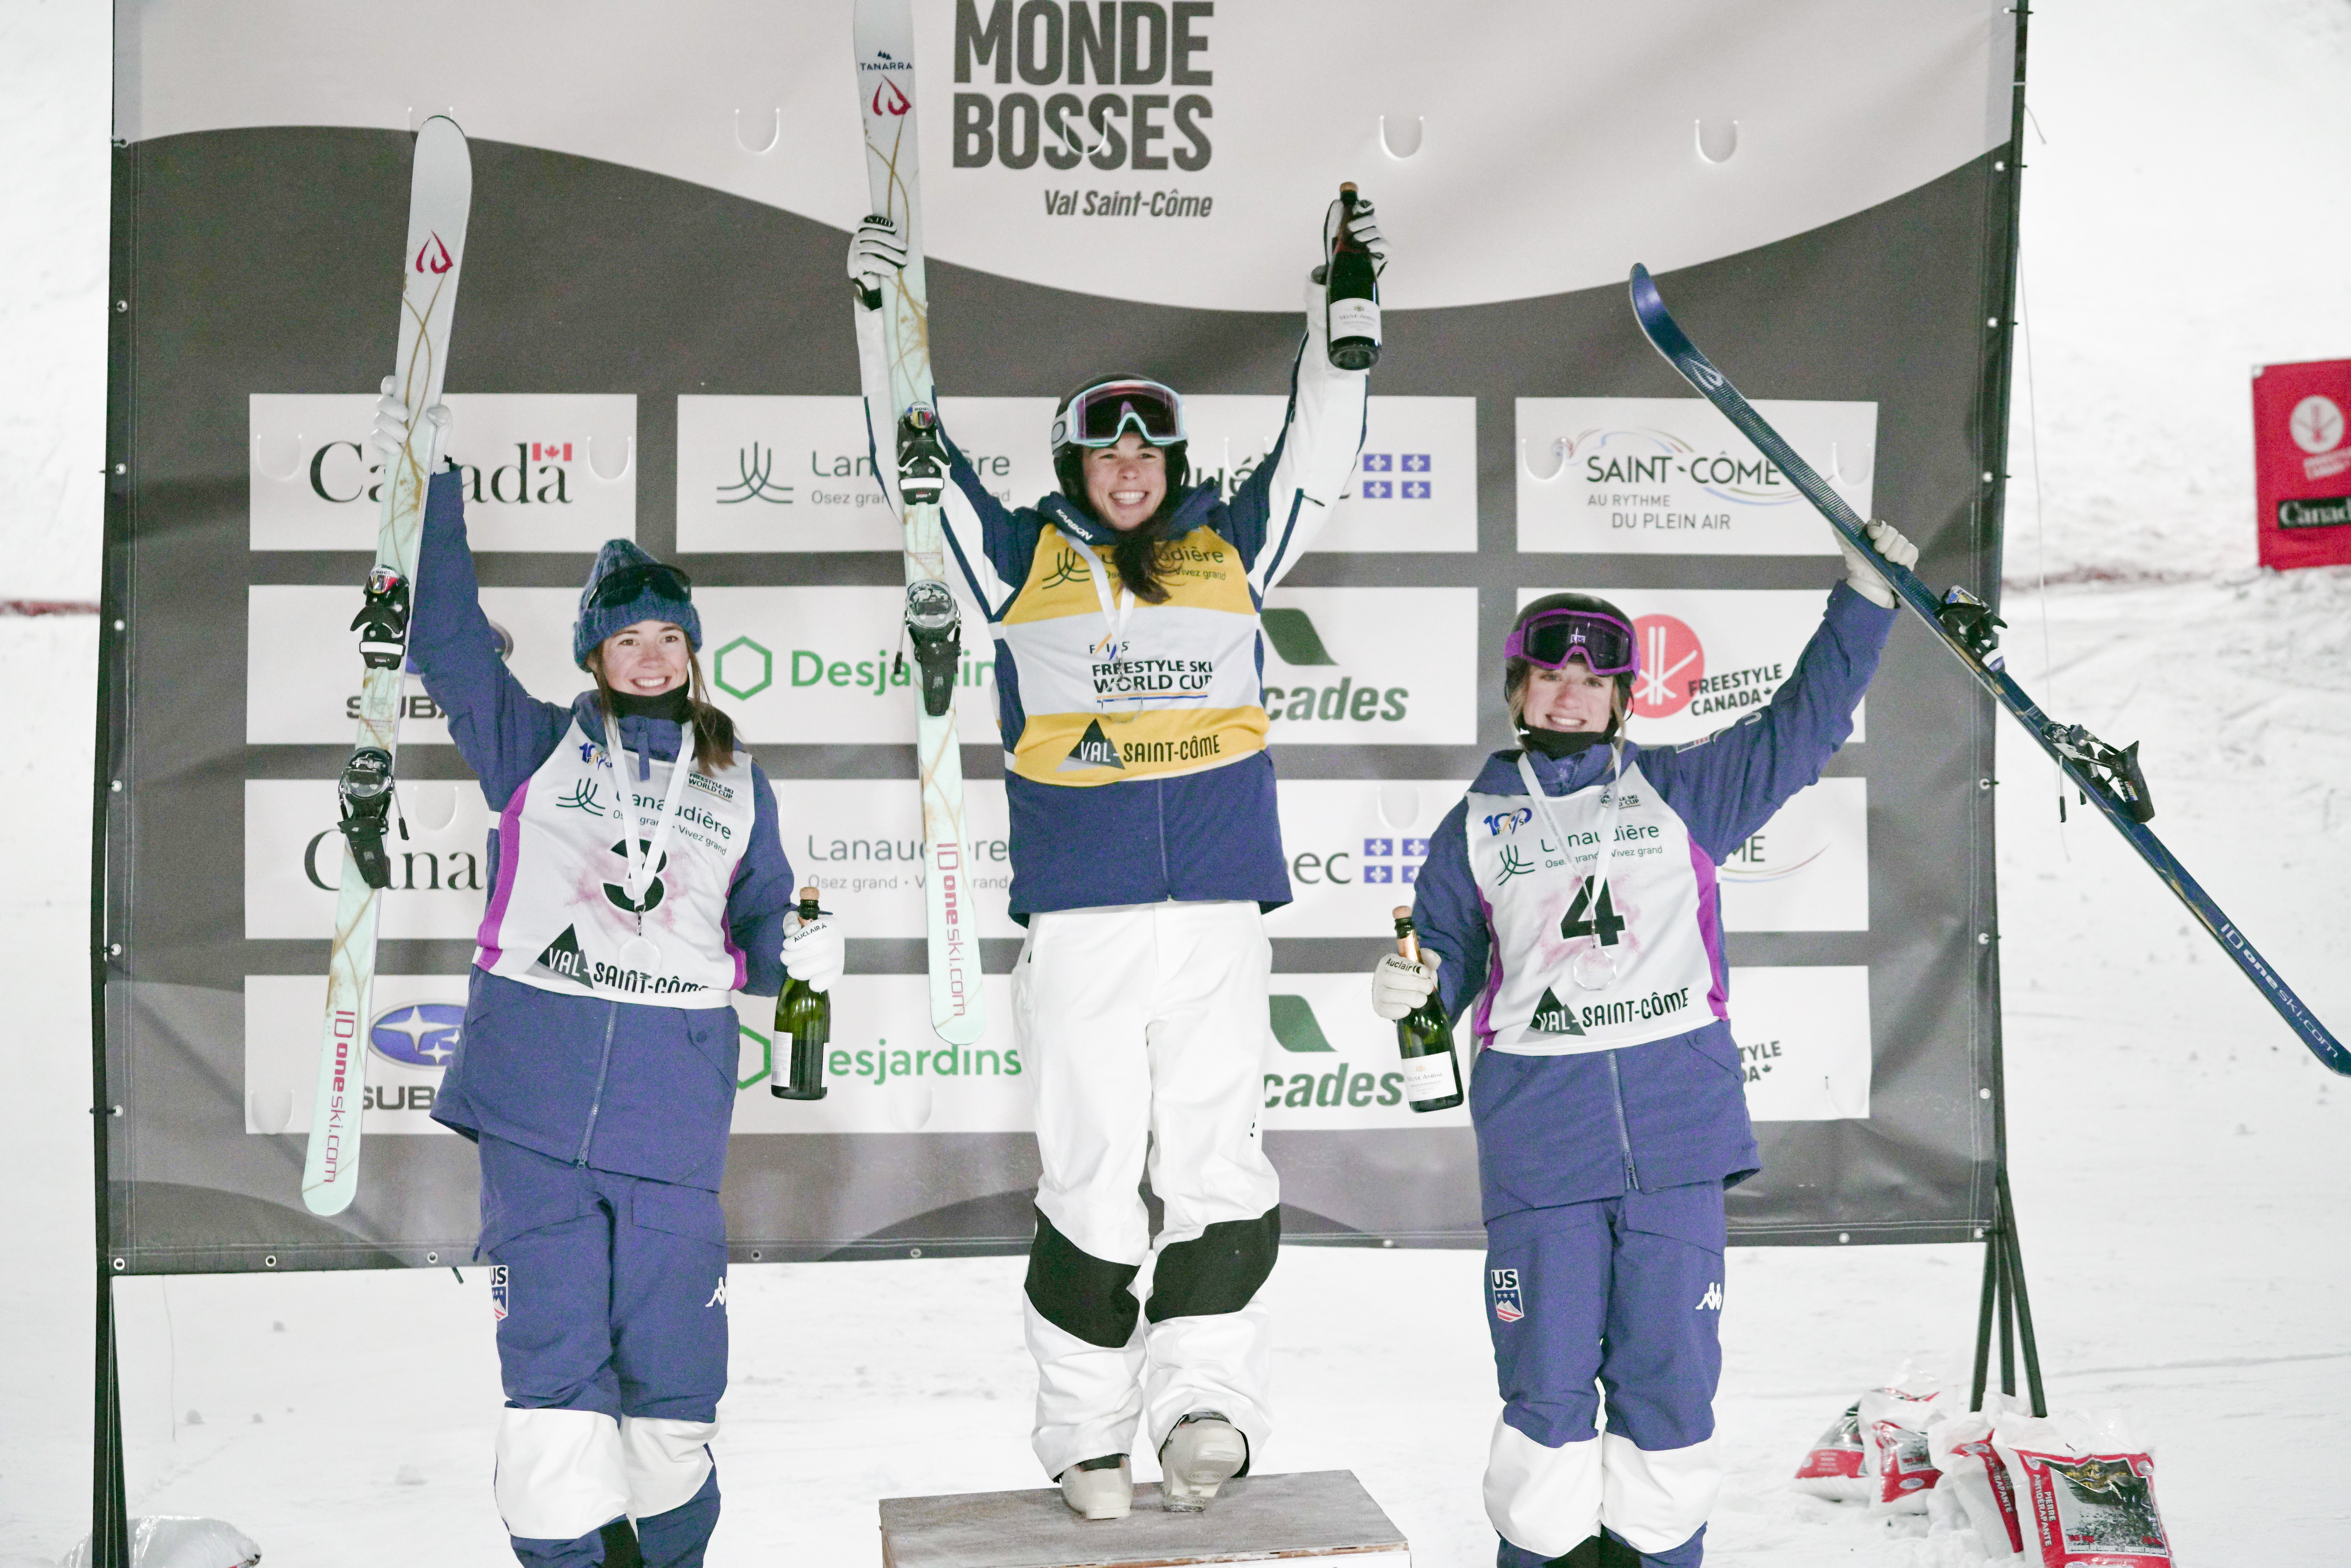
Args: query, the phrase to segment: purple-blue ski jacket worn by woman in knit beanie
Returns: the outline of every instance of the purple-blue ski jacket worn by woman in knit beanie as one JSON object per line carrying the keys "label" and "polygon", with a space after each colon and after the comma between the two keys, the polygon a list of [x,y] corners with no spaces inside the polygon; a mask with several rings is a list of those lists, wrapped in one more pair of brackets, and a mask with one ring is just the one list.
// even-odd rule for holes
{"label": "purple-blue ski jacket worn by woman in knit beanie", "polygon": [[[482,780],[489,809],[503,811],[574,717],[590,738],[604,741],[595,693],[543,703],[498,658],[465,548],[465,496],[454,470],[433,480],[416,576],[409,661],[449,715],[449,738]],[[621,741],[637,757],[672,762],[679,726],[623,717]],[[726,929],[745,954],[743,990],[773,997],[783,985],[792,863],[757,762],[752,783],[752,832],[726,896]],[[489,835],[489,884],[498,884],[496,830]],[[548,1159],[717,1192],[734,1098],[734,1009],[569,997],[475,969],[465,1027],[433,1098],[433,1119]]]}

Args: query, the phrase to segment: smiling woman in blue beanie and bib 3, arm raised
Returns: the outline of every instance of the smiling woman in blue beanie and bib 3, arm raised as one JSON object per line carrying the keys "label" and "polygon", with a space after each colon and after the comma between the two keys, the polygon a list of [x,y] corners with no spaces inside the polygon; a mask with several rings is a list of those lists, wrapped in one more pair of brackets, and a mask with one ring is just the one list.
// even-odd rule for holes
{"label": "smiling woman in blue beanie and bib 3, arm raised", "polygon": [[[376,442],[402,435],[388,397]],[[454,470],[416,576],[409,656],[498,813],[433,1103],[482,1157],[498,1512],[531,1568],[694,1568],[719,1516],[731,992],[785,971],[828,990],[842,938],[792,912],[776,797],[705,698],[684,571],[625,538],[597,552],[571,628],[595,689],[569,703],[498,658]]]}

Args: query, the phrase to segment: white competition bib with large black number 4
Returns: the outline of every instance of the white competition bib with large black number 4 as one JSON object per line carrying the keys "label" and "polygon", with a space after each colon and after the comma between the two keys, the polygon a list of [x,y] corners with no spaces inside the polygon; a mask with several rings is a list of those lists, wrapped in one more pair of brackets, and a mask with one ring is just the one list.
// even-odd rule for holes
{"label": "white competition bib with large black number 4", "polygon": [[1721,938],[1704,896],[1714,863],[1693,851],[1690,830],[1639,762],[1617,783],[1540,806],[1526,795],[1472,790],[1467,799],[1469,872],[1498,959],[1474,1016],[1488,1051],[1608,1051],[1726,1016],[1709,952]]}

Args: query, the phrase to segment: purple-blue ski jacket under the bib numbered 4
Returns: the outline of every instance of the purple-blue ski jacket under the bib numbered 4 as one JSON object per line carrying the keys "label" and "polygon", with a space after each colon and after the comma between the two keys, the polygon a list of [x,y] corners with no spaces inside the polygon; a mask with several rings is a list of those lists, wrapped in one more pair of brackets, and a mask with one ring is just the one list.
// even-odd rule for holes
{"label": "purple-blue ski jacket under the bib numbered 4", "polygon": [[[1893,630],[1881,609],[1846,583],[1829,590],[1820,630],[1770,703],[1688,745],[1625,745],[1690,844],[1721,865],[1803,790],[1853,733],[1853,708],[1869,689]],[[1575,757],[1535,755],[1545,795],[1570,795],[1608,771],[1608,748]],[[1495,752],[1472,785],[1479,795],[1526,795],[1519,752]],[[1486,900],[1469,872],[1467,802],[1429,839],[1413,896],[1422,947],[1436,971],[1446,1016],[1460,1018],[1498,980]],[[1728,994],[1719,891],[1702,879],[1702,926],[1714,985]],[[1493,1220],[1523,1208],[1556,1208],[1622,1192],[1690,1182],[1740,1182],[1756,1173],[1747,1121],[1747,1074],[1730,1023],[1704,1025],[1639,1046],[1582,1056],[1479,1056],[1469,1110],[1479,1131],[1479,1182]]]}

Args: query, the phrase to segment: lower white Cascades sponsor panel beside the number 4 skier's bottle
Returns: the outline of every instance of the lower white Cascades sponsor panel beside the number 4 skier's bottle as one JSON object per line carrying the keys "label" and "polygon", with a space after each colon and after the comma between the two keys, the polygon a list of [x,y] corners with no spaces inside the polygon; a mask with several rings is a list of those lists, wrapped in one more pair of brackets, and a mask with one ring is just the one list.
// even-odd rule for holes
{"label": "lower white Cascades sponsor panel beside the number 4 skier's bottle", "polygon": [[[1270,1133],[1469,1126],[1469,1103],[1415,1112],[1404,1095],[1396,1025],[1371,1011],[1361,973],[1274,976],[1265,1034],[1265,1098],[1258,1126]],[[1462,1046],[1469,1030],[1458,1030]],[[1469,1058],[1460,1056],[1462,1086]]]}

